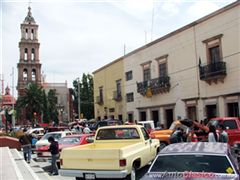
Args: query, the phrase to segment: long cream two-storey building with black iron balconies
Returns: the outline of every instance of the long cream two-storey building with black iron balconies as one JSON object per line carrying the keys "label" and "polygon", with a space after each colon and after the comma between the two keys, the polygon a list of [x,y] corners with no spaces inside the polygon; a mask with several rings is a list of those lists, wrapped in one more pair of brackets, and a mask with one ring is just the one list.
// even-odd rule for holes
{"label": "long cream two-storey building with black iron balconies", "polygon": [[177,116],[239,116],[239,12],[236,1],[121,57],[127,118],[169,127]]}

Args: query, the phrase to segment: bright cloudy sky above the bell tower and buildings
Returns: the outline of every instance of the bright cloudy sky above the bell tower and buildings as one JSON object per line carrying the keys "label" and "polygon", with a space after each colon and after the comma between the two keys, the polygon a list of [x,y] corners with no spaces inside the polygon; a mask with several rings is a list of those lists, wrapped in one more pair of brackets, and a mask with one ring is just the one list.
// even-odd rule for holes
{"label": "bright cloudy sky above the bell tower and buildings", "polygon": [[234,1],[0,0],[1,79],[4,87],[14,87],[16,97],[20,24],[29,5],[39,25],[39,56],[46,81],[67,81],[72,87],[83,73],[92,74],[124,54]]}

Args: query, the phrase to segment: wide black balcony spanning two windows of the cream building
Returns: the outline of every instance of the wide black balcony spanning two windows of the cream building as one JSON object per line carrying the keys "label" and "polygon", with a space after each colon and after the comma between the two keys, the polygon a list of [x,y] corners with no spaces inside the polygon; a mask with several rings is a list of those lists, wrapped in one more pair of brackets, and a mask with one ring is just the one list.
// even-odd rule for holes
{"label": "wide black balcony spanning two windows of the cream building", "polygon": [[170,90],[170,77],[163,76],[148,81],[137,82],[137,92],[143,96],[151,97]]}

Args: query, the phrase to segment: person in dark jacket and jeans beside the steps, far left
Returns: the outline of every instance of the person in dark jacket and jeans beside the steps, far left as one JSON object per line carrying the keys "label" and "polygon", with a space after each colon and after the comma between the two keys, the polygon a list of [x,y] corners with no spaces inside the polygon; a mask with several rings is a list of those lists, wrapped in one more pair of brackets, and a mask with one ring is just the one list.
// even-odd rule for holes
{"label": "person in dark jacket and jeans beside the steps, far left", "polygon": [[23,130],[23,135],[20,136],[19,138],[19,142],[21,143],[22,145],[22,150],[23,150],[23,157],[24,157],[24,160],[27,162],[27,163],[30,163],[31,161],[31,142],[32,142],[32,139],[30,137],[30,135],[28,135],[26,133],[27,129],[24,129]]}

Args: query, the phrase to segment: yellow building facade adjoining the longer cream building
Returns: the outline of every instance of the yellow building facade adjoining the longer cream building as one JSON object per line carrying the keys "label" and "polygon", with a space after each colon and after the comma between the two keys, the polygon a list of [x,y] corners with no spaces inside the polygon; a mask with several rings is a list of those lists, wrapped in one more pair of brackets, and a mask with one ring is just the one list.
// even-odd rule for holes
{"label": "yellow building facade adjoining the longer cream building", "polygon": [[95,118],[126,119],[123,59],[93,72]]}

